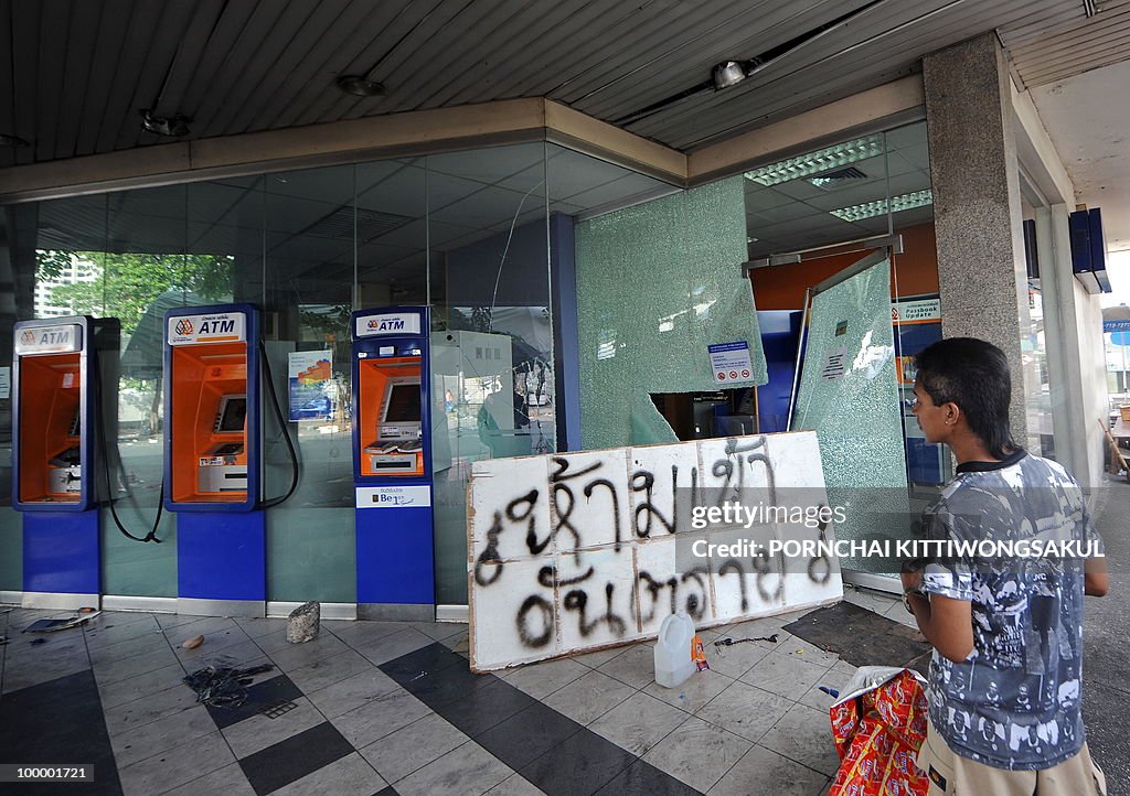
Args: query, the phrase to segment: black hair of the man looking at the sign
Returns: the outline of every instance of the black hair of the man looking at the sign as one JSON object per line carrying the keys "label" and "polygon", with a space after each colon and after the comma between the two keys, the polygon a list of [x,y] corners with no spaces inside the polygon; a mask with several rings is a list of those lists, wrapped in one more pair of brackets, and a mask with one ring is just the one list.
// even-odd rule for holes
{"label": "black hair of the man looking at the sign", "polygon": [[916,353],[914,365],[935,405],[956,403],[990,454],[1005,458],[1019,448],[1008,425],[1012,378],[1003,351],[976,338],[949,338]]}

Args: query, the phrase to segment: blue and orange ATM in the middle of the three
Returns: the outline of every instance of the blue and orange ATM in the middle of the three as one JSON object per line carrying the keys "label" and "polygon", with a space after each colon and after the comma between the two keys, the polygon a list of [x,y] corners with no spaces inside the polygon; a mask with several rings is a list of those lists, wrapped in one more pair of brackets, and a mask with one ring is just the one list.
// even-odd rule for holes
{"label": "blue and orange ATM in the middle of the three", "polygon": [[165,314],[165,508],[177,513],[181,613],[266,613],[258,342],[250,304]]}

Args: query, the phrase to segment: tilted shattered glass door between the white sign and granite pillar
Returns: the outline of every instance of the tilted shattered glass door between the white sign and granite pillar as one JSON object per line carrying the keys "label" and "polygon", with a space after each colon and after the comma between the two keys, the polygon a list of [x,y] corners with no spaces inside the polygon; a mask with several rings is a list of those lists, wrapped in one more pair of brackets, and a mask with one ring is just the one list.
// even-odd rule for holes
{"label": "tilted shattered glass door between the white sign and granite pillar", "polygon": [[[846,509],[836,539],[905,536],[906,462],[886,257],[812,297],[791,429],[815,430],[819,439],[828,501]],[[861,558],[841,563],[876,569]]]}

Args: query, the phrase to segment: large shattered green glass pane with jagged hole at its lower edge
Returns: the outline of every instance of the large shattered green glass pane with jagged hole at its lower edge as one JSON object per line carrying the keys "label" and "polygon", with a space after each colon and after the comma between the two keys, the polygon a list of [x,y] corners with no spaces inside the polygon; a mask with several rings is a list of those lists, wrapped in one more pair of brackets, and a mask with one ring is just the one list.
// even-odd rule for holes
{"label": "large shattered green glass pane with jagged hole at its lower edge", "polygon": [[746,341],[765,357],[746,261],[741,177],[576,227],[581,434],[585,448],[675,441],[651,393],[716,390],[707,345]]}

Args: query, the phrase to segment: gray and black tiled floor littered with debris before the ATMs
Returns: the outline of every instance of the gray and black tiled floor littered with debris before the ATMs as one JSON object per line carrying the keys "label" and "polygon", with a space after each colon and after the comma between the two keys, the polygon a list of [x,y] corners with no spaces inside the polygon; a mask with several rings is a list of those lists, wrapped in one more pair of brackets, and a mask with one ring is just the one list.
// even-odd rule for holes
{"label": "gray and black tiled floor littered with debris before the ATMs", "polygon": [[[672,690],[647,644],[496,676],[469,672],[459,624],[327,621],[289,645],[284,620],[103,613],[20,633],[45,615],[0,607],[0,761],[94,763],[84,793],[816,796],[836,768],[819,686],[854,671],[781,629],[800,614],[703,631],[711,671]],[[275,668],[205,707],[181,679],[208,663]]]}

